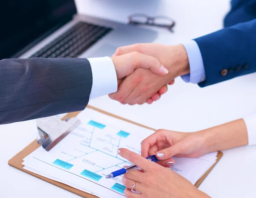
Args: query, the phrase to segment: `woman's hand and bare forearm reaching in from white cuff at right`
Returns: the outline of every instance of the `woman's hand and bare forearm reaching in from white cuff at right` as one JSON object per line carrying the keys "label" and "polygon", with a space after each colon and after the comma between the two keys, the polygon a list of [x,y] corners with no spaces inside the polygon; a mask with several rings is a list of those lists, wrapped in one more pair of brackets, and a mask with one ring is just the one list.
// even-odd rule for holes
{"label": "woman's hand and bare forearm reaching in from white cuff at right", "polygon": [[244,120],[239,119],[191,133],[157,130],[142,141],[141,155],[157,155],[161,161],[172,156],[198,158],[209,152],[247,144],[247,128]]}

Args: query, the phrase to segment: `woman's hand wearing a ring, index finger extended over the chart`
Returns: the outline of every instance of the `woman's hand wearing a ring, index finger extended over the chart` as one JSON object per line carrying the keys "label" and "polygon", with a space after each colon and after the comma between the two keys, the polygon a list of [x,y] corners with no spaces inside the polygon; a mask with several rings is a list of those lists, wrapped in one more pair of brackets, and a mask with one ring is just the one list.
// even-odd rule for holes
{"label": "woman's hand wearing a ring, index finger extended over the chart", "polygon": [[[122,178],[127,198],[209,198],[171,169],[151,162],[128,149],[119,149],[118,152],[123,158],[144,170],[128,172]],[[135,190],[140,194],[131,191],[134,182]]]}

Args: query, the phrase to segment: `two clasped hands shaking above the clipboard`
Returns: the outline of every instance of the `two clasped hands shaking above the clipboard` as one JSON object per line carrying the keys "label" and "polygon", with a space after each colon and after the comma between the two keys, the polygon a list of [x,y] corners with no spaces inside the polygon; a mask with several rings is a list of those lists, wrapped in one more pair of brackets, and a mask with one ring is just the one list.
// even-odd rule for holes
{"label": "two clasped hands shaking above the clipboard", "polygon": [[111,57],[118,79],[118,90],[109,95],[122,104],[151,104],[167,91],[167,84],[186,75],[189,60],[183,45],[156,43],[119,47]]}

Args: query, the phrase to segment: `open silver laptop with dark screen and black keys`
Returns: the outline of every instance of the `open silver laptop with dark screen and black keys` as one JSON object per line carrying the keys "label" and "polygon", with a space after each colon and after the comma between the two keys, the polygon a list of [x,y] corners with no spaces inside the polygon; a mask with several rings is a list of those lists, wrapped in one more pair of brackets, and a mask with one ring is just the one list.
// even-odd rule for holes
{"label": "open silver laptop with dark screen and black keys", "polygon": [[0,5],[0,60],[111,56],[119,46],[157,37],[150,29],[78,14],[74,0],[5,0]]}

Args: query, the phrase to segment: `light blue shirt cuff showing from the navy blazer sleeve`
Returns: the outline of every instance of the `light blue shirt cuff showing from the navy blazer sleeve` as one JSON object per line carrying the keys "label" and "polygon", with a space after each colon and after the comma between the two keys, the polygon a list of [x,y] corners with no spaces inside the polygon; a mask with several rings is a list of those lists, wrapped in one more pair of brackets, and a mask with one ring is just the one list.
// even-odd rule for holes
{"label": "light blue shirt cuff showing from the navy blazer sleeve", "polygon": [[195,40],[189,40],[187,43],[182,43],[185,47],[188,58],[190,74],[181,76],[186,83],[200,83],[205,80],[205,70],[203,57],[201,55],[198,44]]}

